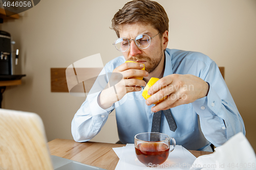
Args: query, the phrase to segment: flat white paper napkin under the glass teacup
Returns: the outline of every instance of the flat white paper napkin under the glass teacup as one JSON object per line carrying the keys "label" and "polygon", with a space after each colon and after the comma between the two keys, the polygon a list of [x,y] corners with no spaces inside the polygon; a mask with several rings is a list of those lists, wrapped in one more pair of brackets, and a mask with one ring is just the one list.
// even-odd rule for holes
{"label": "flat white paper napkin under the glass teacup", "polygon": [[157,167],[147,167],[142,164],[136,157],[134,144],[126,144],[125,147],[113,148],[119,161],[115,170],[142,170],[142,169],[189,169],[196,157],[183,148],[181,145],[176,145],[173,152],[168,156],[168,159]]}

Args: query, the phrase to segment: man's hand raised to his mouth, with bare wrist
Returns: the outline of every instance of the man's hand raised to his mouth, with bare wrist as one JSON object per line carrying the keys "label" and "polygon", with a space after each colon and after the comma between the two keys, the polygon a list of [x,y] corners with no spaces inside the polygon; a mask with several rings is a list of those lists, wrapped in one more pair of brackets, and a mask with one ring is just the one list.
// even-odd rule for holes
{"label": "man's hand raised to his mouth, with bare wrist", "polygon": [[[113,103],[121,100],[126,93],[133,91],[140,91],[140,86],[145,86],[144,80],[135,79],[135,77],[147,77],[148,72],[141,70],[144,67],[143,64],[127,62],[116,67],[113,72],[117,72],[123,75],[123,79],[111,88],[102,90],[98,103],[101,108],[109,108]],[[110,81],[113,81],[110,78]]]}

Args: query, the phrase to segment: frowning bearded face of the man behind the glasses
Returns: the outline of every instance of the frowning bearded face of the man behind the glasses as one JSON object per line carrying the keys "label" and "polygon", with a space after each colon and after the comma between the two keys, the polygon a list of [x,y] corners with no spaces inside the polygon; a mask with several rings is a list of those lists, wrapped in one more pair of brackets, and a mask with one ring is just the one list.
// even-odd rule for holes
{"label": "frowning bearded face of the man behind the glasses", "polygon": [[[157,35],[159,32],[150,25],[141,23],[124,24],[119,26],[120,37],[135,39],[139,34],[147,34],[150,37]],[[130,48],[123,52],[125,60],[136,61],[145,65],[145,70],[151,73],[164,59],[162,39],[160,35],[151,39],[151,45],[145,49],[139,48],[135,42],[130,41]]]}

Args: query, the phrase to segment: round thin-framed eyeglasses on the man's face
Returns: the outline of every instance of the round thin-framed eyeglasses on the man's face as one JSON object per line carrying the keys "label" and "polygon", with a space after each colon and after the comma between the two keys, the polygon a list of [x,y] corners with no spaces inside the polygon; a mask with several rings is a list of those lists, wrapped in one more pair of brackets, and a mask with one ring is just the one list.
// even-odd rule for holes
{"label": "round thin-framed eyeglasses on the man's face", "polygon": [[[160,33],[158,33],[160,34]],[[157,34],[157,35],[158,35]],[[155,36],[157,36],[155,35]],[[115,42],[113,43],[113,45],[115,45],[116,49],[120,52],[125,52],[129,49],[130,47],[130,41],[131,40],[134,40],[135,44],[141,48],[141,49],[145,49],[147,48],[148,46],[150,46],[151,44],[151,39],[154,38],[155,36],[153,37],[150,37],[149,35],[147,34],[140,34],[138,35],[135,39],[128,39],[128,38],[118,38],[115,40]]]}

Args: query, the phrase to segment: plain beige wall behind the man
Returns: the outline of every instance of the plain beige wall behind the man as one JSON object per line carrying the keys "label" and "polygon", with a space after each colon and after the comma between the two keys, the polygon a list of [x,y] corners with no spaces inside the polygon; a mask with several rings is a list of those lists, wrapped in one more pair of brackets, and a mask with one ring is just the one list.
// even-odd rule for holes
{"label": "plain beige wall behind the man", "polygon": [[[169,20],[169,48],[199,51],[225,67],[225,81],[244,119],[246,137],[256,149],[255,94],[256,1],[172,0],[159,2]],[[113,15],[126,1],[41,1],[6,21],[1,30],[11,33],[20,50],[23,84],[8,87],[3,107],[38,113],[48,140],[72,139],[71,120],[83,98],[52,93],[50,68],[67,67],[100,53],[103,64],[121,55],[112,45]],[[118,140],[115,113],[93,141]]]}

